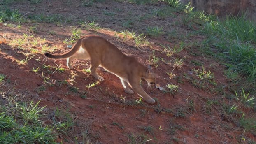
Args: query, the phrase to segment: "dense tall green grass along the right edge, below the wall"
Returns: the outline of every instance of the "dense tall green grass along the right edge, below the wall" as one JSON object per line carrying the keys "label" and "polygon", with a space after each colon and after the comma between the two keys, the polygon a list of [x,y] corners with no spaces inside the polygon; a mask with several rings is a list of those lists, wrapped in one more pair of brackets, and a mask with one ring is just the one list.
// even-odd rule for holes
{"label": "dense tall green grass along the right edge, below the wall", "polygon": [[[207,45],[218,49],[228,69],[228,77],[236,74],[246,79],[247,87],[255,91],[256,84],[256,25],[242,16],[227,16],[224,21],[208,19],[202,33]],[[238,76],[239,77],[239,76]]]}

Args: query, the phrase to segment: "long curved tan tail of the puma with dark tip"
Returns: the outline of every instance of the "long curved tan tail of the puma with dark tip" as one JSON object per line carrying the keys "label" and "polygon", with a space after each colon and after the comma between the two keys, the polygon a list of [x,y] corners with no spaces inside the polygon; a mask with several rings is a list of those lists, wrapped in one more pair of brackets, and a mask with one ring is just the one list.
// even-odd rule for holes
{"label": "long curved tan tail of the puma with dark tip", "polygon": [[62,59],[62,58],[68,58],[70,56],[72,56],[74,53],[76,53],[80,46],[81,46],[81,41],[82,41],[83,38],[79,39],[75,44],[74,46],[69,50],[67,51],[66,53],[63,53],[63,54],[51,54],[51,53],[44,53],[44,56],[48,57],[48,58],[53,58],[53,59]]}

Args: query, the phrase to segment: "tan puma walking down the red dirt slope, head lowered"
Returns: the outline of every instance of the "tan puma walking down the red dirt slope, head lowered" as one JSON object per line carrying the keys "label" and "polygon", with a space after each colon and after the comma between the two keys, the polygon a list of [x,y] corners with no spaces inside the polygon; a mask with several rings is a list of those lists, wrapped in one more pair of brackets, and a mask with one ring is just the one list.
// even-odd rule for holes
{"label": "tan puma walking down the red dirt slope, head lowered", "polygon": [[91,59],[90,71],[93,77],[103,81],[103,78],[96,72],[97,67],[101,66],[120,78],[126,93],[133,94],[133,91],[135,91],[148,103],[155,103],[155,100],[140,86],[141,78],[145,79],[148,85],[155,83],[155,75],[151,66],[146,67],[134,57],[126,56],[116,46],[100,36],[84,36],[66,53],[60,55],[44,53],[44,55],[54,59],[67,58],[67,67],[70,69],[73,68],[71,65],[73,59]]}

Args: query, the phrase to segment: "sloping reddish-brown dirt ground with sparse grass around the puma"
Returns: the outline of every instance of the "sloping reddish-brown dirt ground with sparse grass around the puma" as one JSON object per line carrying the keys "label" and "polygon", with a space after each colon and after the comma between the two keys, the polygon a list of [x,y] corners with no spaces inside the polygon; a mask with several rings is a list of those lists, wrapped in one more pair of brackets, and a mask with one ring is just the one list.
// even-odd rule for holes
{"label": "sloping reddish-brown dirt ground with sparse grass around the puma", "polygon": [[[5,74],[10,85],[21,93],[21,100],[41,100],[46,105],[45,113],[49,117],[56,111],[67,111],[74,121],[74,126],[67,135],[59,135],[58,142],[92,142],[98,144],[235,144],[242,143],[242,128],[229,121],[221,107],[216,103],[231,105],[224,94],[228,94],[229,82],[223,74],[223,66],[211,56],[201,52],[200,43],[204,37],[195,30],[200,23],[184,23],[180,12],[160,17],[157,10],[169,7],[163,2],[154,5],[136,5],[128,2],[95,2],[90,7],[81,5],[83,1],[43,0],[39,4],[19,2],[10,6],[19,9],[24,16],[37,22],[22,23],[16,26],[0,26],[0,37],[7,42],[0,44],[0,73]],[[41,18],[40,18],[41,16]],[[45,17],[58,19],[45,22]],[[44,18],[44,20],[43,20]],[[42,23],[38,22],[42,19]],[[61,20],[61,21],[59,21]],[[100,28],[82,27],[79,22],[98,23]],[[6,23],[10,23],[6,21]],[[14,23],[18,25],[17,23]],[[163,34],[159,37],[147,36],[149,43],[136,45],[135,39],[125,37],[120,31],[135,31],[137,35],[146,33],[147,27],[159,26]],[[33,28],[34,27],[34,28]],[[168,84],[178,85],[176,91],[164,93],[155,87],[142,86],[149,95],[158,99],[155,105],[139,101],[137,94],[127,95],[117,77],[99,69],[105,81],[88,88],[95,80],[84,69],[89,62],[74,61],[74,70],[69,70],[66,60],[50,60],[43,56],[43,51],[55,49],[54,53],[67,51],[63,44],[69,39],[74,28],[81,29],[80,35],[96,34],[115,44],[123,53],[135,56],[141,63],[153,64],[158,74],[157,83],[166,88]],[[28,44],[11,44],[14,39],[25,40]],[[33,37],[32,37],[33,35]],[[35,39],[42,39],[39,44],[31,44]],[[45,39],[45,40],[43,40]],[[167,56],[164,46],[181,47],[182,51]],[[44,50],[44,46],[49,49]],[[31,52],[36,49],[37,52]],[[153,53],[154,51],[154,53]],[[152,63],[152,56],[161,58]],[[31,58],[25,64],[17,61]],[[182,58],[180,69],[174,68],[175,58]],[[51,67],[47,67],[50,65]],[[57,70],[56,67],[65,70]],[[213,84],[200,80],[196,70],[202,66],[214,74]],[[40,69],[34,72],[33,69]],[[167,73],[177,74],[170,79]],[[9,87],[3,87],[8,89]],[[213,103],[208,103],[211,101]],[[215,104],[215,105],[214,105]],[[249,110],[250,111],[250,110]],[[63,113],[65,115],[66,113]],[[50,118],[45,123],[51,123]],[[255,139],[247,132],[246,137]]]}

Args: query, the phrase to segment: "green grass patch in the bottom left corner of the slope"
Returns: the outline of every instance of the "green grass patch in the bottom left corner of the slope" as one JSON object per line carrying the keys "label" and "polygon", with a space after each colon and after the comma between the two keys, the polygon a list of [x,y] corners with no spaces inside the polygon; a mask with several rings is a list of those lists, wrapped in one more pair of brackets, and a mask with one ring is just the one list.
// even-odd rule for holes
{"label": "green grass patch in the bottom left corner of the slope", "polygon": [[55,144],[56,132],[40,121],[45,107],[38,107],[38,104],[39,102],[35,105],[30,102],[29,106],[25,103],[16,104],[15,107],[9,107],[7,111],[0,113],[1,144]]}

